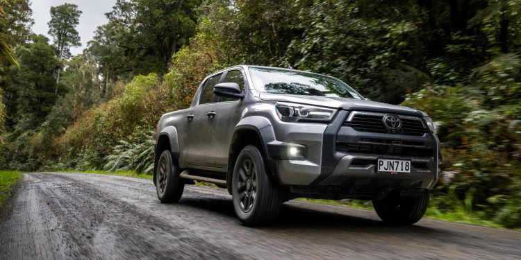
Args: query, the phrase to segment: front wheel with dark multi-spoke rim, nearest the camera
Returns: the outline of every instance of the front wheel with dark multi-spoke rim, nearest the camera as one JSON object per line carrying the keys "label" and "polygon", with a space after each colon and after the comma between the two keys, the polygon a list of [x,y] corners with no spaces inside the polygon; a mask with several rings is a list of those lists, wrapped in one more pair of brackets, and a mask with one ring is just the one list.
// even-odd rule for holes
{"label": "front wheel with dark multi-spoke rim, nearest the camera", "polygon": [[233,168],[233,209],[246,226],[273,223],[281,212],[285,193],[267,170],[263,155],[255,146],[246,146]]}

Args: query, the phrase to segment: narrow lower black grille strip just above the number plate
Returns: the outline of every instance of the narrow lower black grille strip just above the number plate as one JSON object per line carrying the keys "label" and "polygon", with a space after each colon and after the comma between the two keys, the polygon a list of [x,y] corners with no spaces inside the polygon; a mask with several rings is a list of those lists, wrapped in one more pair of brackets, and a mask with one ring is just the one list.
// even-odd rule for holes
{"label": "narrow lower black grille strip just above the number plate", "polygon": [[[385,141],[383,141],[385,140]],[[348,154],[395,155],[405,157],[431,157],[433,148],[404,144],[400,140],[378,139],[376,142],[358,141],[358,143],[336,143],[336,150]]]}

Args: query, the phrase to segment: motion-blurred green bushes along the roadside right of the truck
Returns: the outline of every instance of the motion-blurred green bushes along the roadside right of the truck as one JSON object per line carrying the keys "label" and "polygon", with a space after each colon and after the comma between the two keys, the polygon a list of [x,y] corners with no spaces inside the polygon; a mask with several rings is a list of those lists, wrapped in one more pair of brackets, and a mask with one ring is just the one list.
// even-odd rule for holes
{"label": "motion-blurred green bushes along the roadside right of the truck", "polygon": [[430,86],[402,104],[428,112],[440,125],[438,211],[519,227],[520,62],[501,54],[473,71],[454,87]]}

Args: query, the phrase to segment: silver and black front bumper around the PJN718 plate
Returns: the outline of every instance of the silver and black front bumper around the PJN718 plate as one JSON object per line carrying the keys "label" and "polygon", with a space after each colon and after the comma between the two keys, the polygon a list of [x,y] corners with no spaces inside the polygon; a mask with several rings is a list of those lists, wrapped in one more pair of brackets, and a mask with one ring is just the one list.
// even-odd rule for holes
{"label": "silver and black front bumper around the PJN718 plate", "polygon": [[[433,188],[440,177],[439,141],[435,135],[358,132],[344,124],[348,114],[341,110],[329,125],[280,121],[273,125],[277,141],[306,146],[306,159],[276,162],[281,184]],[[353,151],[353,146],[362,148]],[[383,149],[369,149],[380,146]],[[378,173],[379,158],[410,159],[411,173]]]}

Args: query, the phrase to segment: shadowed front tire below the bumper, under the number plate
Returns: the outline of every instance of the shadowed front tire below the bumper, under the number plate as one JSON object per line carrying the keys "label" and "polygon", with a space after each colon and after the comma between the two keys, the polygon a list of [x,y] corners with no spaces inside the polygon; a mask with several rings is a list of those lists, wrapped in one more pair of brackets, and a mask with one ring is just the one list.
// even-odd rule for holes
{"label": "shadowed front tire below the bumper, under the number plate", "polygon": [[429,207],[430,191],[424,191],[419,197],[402,197],[399,193],[390,193],[382,200],[373,200],[374,210],[385,223],[412,225],[422,219]]}

